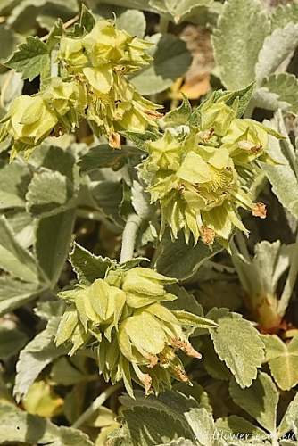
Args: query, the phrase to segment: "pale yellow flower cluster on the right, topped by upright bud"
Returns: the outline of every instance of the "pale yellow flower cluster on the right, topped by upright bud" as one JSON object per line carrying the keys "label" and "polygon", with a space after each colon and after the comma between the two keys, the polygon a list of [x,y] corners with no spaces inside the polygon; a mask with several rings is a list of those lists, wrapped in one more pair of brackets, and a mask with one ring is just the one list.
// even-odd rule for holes
{"label": "pale yellow flower cluster on the right, topped by upright bud", "polygon": [[[253,203],[247,178],[255,178],[256,161],[270,162],[266,149],[270,130],[259,122],[236,117],[237,103],[206,101],[195,126],[166,128],[148,142],[148,158],[139,167],[152,202],[161,204],[161,235],[183,230],[188,243],[215,237],[228,247],[234,227],[247,233],[237,209],[266,217],[263,203]],[[272,161],[271,161],[272,162]]]}

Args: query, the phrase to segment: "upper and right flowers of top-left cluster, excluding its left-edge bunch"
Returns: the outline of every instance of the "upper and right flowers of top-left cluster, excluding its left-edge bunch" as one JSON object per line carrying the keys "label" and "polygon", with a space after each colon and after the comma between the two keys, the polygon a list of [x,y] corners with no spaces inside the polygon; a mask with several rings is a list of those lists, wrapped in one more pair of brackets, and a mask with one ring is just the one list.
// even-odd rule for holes
{"label": "upper and right flowers of top-left cluster, excluding its left-edge bunch", "polygon": [[61,40],[62,66],[87,87],[87,120],[112,147],[120,146],[118,130],[142,132],[161,116],[159,106],[139,95],[125,77],[151,62],[145,52],[150,46],[109,21],[98,21],[83,38]]}

